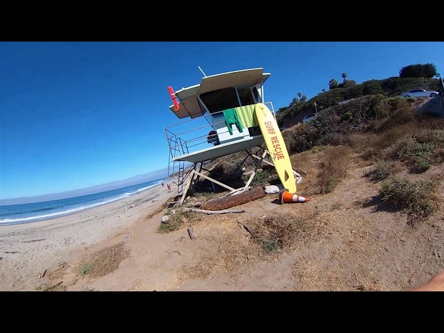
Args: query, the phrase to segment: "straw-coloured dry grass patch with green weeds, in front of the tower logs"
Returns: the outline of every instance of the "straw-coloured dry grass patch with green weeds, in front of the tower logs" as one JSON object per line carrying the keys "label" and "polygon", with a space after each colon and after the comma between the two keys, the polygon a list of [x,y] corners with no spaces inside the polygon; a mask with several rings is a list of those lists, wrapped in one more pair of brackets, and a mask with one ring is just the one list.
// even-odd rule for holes
{"label": "straw-coloured dry grass patch with green weeds, in front of the tower logs", "polygon": [[[222,216],[213,218],[223,219]],[[231,219],[226,220],[225,226],[218,232],[223,236],[211,237],[214,246],[196,264],[183,266],[179,280],[204,279],[219,271],[231,272],[259,260],[273,260],[294,248],[316,242],[321,235],[315,219],[296,215],[278,214],[264,219],[250,219],[242,224],[251,230],[251,234]],[[203,230],[200,232],[202,234]]]}

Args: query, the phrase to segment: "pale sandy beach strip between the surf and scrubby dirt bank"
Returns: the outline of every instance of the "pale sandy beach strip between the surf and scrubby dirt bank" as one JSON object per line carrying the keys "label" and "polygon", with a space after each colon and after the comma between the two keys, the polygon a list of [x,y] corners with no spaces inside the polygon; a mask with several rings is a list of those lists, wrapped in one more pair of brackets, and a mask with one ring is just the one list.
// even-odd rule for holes
{"label": "pale sandy beach strip between the surf and scrubby dirt bank", "polygon": [[[94,207],[57,219],[0,226],[0,291],[35,290],[45,269],[69,262],[80,250],[119,234],[144,219],[171,196],[176,188],[157,185],[114,203]],[[125,209],[130,205],[136,207]]]}

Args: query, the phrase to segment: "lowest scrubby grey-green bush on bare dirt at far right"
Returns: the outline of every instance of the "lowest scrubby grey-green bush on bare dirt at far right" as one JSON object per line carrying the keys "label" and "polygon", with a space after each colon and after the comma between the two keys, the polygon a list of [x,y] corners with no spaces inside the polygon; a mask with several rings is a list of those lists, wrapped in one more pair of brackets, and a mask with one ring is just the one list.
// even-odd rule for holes
{"label": "lowest scrubby grey-green bush on bare dirt at far right", "polygon": [[438,209],[437,187],[438,181],[434,179],[393,177],[382,183],[379,194],[382,200],[417,220],[427,218]]}

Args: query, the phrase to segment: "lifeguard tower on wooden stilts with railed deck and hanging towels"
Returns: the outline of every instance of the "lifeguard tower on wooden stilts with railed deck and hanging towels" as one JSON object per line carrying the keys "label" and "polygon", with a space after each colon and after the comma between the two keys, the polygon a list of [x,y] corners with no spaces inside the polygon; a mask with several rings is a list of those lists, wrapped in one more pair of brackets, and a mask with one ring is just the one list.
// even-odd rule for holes
{"label": "lifeguard tower on wooden stilts with railed deck and hanging towels", "polygon": [[178,194],[185,191],[181,203],[195,176],[232,192],[239,190],[205,176],[201,171],[207,161],[246,151],[247,157],[271,164],[263,160],[266,153],[259,157],[249,151],[264,143],[255,105],[266,104],[275,117],[273,104],[264,102],[264,83],[270,76],[262,68],[230,71],[205,76],[199,85],[175,92],[180,102],[169,108],[179,119],[188,119],[164,128],[164,132],[169,146],[169,177],[178,185]]}

